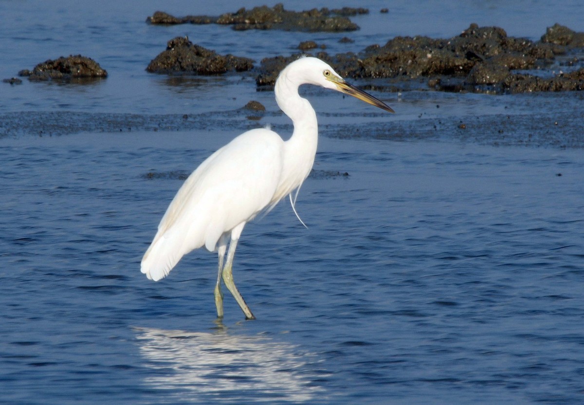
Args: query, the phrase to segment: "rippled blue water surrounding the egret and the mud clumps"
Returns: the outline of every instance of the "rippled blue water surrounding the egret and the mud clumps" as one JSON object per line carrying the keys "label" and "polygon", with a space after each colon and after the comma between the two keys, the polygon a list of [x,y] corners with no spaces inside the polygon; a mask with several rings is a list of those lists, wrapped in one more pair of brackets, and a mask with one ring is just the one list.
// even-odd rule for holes
{"label": "rippled blue water surrounding the egret and the mud clumps", "polygon": [[[471,22],[584,31],[577,2],[368,3],[355,50]],[[150,59],[176,35],[256,61],[313,37],[336,52],[345,36],[144,23],[240,5],[256,3],[0,2],[1,78],[76,53],[110,74],[0,83],[0,403],[584,402],[578,93],[374,93],[388,117],[308,89],[322,132],[297,203],[308,229],[283,202],[248,224],[235,258],[258,320],[226,297],[216,321],[206,251],[158,283],[140,273],[173,173],[246,128],[290,131],[252,79],[176,82],[144,72]],[[252,99],[259,122],[234,112]]]}

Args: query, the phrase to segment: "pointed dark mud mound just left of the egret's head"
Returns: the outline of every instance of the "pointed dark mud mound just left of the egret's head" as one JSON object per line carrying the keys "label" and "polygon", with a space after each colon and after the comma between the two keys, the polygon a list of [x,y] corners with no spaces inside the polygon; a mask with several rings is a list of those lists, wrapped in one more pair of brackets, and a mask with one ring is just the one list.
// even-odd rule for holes
{"label": "pointed dark mud mound just left of the egret's head", "polygon": [[251,68],[252,59],[218,55],[215,51],[193,44],[189,38],[176,37],[168,41],[166,50],[152,59],[146,70],[151,73],[219,75],[228,71],[249,71]]}

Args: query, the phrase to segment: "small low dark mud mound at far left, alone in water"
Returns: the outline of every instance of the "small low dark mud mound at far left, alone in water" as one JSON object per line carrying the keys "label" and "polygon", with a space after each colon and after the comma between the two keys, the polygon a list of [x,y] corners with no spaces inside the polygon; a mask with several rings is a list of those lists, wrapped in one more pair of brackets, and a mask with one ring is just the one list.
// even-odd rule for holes
{"label": "small low dark mud mound at far left, alone in water", "polygon": [[18,72],[19,76],[27,76],[29,80],[72,80],[106,78],[107,72],[98,62],[81,55],[71,55],[67,58],[49,59],[34,66],[32,71],[25,69]]}

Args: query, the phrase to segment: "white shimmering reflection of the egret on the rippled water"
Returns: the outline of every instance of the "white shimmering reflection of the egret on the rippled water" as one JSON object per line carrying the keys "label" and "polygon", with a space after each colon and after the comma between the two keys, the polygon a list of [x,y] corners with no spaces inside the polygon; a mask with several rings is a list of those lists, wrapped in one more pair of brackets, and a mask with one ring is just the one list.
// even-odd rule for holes
{"label": "white shimmering reflection of the egret on the rippled water", "polygon": [[[312,380],[325,378],[313,354],[262,336],[135,328],[146,366],[145,380],[173,400],[245,403],[308,402],[324,390]],[[172,391],[176,396],[172,399]]]}

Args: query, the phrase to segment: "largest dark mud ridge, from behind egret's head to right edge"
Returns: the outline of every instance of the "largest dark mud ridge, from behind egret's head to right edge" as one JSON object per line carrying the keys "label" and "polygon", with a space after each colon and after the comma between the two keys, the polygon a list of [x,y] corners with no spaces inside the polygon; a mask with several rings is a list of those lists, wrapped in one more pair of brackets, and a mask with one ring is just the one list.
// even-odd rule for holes
{"label": "largest dark mud ridge, from behind egret's head to right edge", "polygon": [[[524,71],[550,69],[557,64],[558,57],[566,57],[573,48],[583,46],[584,33],[558,24],[548,28],[541,41],[535,42],[509,37],[500,27],[471,24],[459,36],[449,39],[395,37],[383,46],[371,45],[359,54],[329,55],[321,51],[315,56],[345,77],[394,82],[426,78],[427,84],[436,90],[519,93],[582,89],[582,69],[547,78]],[[257,84],[273,85],[279,71],[298,57],[263,59]],[[569,65],[578,63],[578,58],[574,58]]]}

